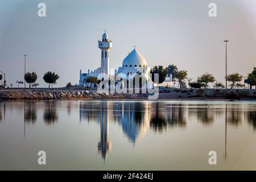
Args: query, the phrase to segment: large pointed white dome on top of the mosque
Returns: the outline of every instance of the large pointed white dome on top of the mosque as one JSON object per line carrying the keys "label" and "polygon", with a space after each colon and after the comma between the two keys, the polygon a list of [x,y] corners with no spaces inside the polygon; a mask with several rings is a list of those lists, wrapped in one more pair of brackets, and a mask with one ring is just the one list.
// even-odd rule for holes
{"label": "large pointed white dome on top of the mosque", "polygon": [[126,65],[127,67],[130,67],[130,65],[131,67],[147,67],[147,61],[136,49],[133,49],[123,60],[122,66],[126,67]]}

